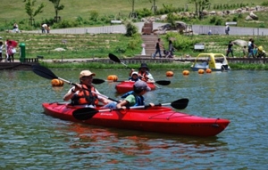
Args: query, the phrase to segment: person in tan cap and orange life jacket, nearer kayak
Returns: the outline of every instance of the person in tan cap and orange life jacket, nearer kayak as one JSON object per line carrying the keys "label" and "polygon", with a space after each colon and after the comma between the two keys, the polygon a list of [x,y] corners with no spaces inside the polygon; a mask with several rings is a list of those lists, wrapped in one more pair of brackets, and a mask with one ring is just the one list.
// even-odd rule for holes
{"label": "person in tan cap and orange life jacket, nearer kayak", "polygon": [[82,70],[80,72],[80,84],[75,84],[71,89],[63,96],[64,101],[71,100],[72,105],[83,105],[84,107],[96,107],[98,101],[108,104],[112,102],[110,100],[101,97],[94,85],[92,85],[93,76],[89,70]]}

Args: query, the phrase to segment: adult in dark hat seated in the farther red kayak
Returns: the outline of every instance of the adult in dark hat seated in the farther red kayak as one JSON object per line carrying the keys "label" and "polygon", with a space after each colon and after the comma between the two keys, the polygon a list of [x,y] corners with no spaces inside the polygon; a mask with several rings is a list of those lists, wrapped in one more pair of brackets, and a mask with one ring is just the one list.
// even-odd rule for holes
{"label": "adult in dark hat seated in the farther red kayak", "polygon": [[[130,76],[133,71],[135,71],[135,69],[130,70]],[[147,63],[141,63],[140,68],[138,69],[138,77],[145,82],[155,83],[155,79],[149,71],[150,69],[148,68]]]}

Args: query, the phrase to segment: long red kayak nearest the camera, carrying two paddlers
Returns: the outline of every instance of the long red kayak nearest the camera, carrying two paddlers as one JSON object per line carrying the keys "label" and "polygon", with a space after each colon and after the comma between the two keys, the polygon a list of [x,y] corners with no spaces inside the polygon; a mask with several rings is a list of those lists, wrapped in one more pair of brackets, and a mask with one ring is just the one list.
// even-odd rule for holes
{"label": "long red kayak nearest the camera, carrying two paddlers", "polygon": [[43,103],[43,108],[46,115],[63,120],[164,134],[214,136],[220,134],[230,124],[227,119],[197,117],[163,106],[111,110],[79,108],[68,103],[54,102]]}

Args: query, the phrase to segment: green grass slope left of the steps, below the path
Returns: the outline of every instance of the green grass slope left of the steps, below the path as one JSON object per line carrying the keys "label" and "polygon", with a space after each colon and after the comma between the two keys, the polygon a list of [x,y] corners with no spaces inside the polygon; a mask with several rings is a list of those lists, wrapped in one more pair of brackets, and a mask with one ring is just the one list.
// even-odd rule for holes
{"label": "green grass slope left of the steps, below the path", "polygon": [[[121,34],[99,35],[62,35],[62,34],[13,34],[0,33],[3,39],[13,39],[24,43],[26,57],[36,58],[38,55],[46,59],[74,59],[74,58],[105,58],[108,53],[134,56],[140,53],[141,37],[124,36]],[[66,41],[66,44],[63,43]],[[130,43],[134,42],[134,46]],[[54,49],[63,48],[66,51],[56,52]],[[19,57],[18,55],[16,55]]]}

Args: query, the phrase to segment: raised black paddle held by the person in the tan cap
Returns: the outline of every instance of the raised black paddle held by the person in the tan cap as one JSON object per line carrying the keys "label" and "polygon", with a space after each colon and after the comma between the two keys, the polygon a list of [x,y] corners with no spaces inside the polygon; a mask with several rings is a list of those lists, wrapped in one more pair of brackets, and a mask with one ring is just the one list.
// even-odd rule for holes
{"label": "raised black paddle held by the person in the tan cap", "polygon": [[[36,73],[38,76],[40,77],[44,77],[44,78],[47,78],[47,79],[60,79],[60,80],[63,80],[64,82],[68,83],[69,85],[76,85],[74,83],[71,83],[70,81],[68,80],[65,80],[61,77],[57,77],[54,75],[54,73],[50,70],[50,69],[47,69],[41,65],[32,65],[32,71],[34,73]],[[88,89],[85,89],[85,90],[88,90]],[[92,91],[91,91],[92,92]],[[95,92],[92,92],[92,93],[95,93]],[[111,100],[111,101],[116,101],[114,99],[111,99],[107,96],[105,96],[104,94],[100,94],[100,93],[96,93],[96,95],[99,95],[101,97],[104,97],[105,99],[108,99],[108,100]],[[116,102],[119,102],[119,101],[116,101]]]}

